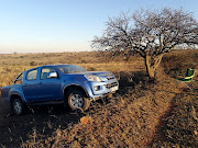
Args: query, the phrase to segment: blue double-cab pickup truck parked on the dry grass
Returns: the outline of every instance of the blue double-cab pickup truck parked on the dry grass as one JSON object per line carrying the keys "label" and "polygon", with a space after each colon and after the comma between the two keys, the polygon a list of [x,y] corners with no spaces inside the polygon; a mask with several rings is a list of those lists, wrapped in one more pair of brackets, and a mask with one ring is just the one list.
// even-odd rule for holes
{"label": "blue double-cab pickup truck parked on the dry grass", "polygon": [[112,72],[87,71],[75,65],[48,65],[26,70],[1,89],[2,100],[14,114],[26,105],[64,104],[87,110],[91,101],[114,93],[119,83]]}

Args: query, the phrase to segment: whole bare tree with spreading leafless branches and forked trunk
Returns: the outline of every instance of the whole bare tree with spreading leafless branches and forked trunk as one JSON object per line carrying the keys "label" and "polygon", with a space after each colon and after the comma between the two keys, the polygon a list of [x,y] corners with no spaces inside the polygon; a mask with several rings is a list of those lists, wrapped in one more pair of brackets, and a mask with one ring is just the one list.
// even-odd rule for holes
{"label": "whole bare tree with spreading leafless branches and forked trunk", "polygon": [[165,53],[178,45],[198,44],[197,30],[197,20],[183,9],[141,10],[110,18],[103,35],[96,36],[92,46],[125,56],[135,50],[144,58],[148,77],[154,78]]}

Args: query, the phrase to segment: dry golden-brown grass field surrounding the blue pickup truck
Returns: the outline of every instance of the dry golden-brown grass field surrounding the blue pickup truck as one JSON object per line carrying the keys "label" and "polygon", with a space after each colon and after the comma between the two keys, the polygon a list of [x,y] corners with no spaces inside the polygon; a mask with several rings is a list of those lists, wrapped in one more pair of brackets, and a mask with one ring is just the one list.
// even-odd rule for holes
{"label": "dry golden-brown grass field surrounding the blue pickup truck", "polygon": [[[147,81],[143,59],[136,55],[128,61],[97,52],[0,55],[0,87],[12,84],[21,71],[51,64],[112,71],[120,90],[85,113],[34,106],[14,116],[0,103],[0,147],[198,146],[198,50],[165,55],[154,82]],[[196,69],[193,91],[173,79],[187,68]]]}

